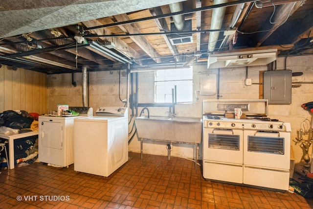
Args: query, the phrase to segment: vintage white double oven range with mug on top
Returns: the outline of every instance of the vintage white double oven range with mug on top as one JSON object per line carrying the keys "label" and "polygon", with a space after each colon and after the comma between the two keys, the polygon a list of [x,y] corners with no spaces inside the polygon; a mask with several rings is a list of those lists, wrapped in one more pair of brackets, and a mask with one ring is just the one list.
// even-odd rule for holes
{"label": "vintage white double oven range with mug on top", "polygon": [[203,100],[204,179],[288,190],[291,125],[267,116],[266,99]]}

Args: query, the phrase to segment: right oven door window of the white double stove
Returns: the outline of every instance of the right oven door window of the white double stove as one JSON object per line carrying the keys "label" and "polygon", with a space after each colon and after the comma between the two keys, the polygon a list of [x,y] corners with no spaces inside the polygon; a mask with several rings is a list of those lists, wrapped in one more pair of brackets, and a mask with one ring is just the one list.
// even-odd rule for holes
{"label": "right oven door window of the white double stove", "polygon": [[284,155],[284,138],[248,136],[248,152]]}

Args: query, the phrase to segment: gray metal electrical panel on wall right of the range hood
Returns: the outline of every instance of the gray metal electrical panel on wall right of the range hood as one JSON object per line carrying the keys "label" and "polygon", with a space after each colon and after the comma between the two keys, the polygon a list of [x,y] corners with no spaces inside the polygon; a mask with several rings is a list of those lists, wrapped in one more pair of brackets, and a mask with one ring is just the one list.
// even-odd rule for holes
{"label": "gray metal electrical panel on wall right of the range hood", "polygon": [[268,104],[291,104],[291,70],[265,71],[263,73],[264,99]]}

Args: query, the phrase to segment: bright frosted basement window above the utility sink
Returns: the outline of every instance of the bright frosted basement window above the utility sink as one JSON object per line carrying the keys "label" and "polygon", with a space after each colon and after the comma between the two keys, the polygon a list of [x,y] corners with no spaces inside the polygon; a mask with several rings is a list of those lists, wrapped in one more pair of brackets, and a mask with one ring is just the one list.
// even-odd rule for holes
{"label": "bright frosted basement window above the utility sink", "polygon": [[157,70],[155,102],[172,103],[172,89],[177,91],[177,103],[192,102],[192,68]]}

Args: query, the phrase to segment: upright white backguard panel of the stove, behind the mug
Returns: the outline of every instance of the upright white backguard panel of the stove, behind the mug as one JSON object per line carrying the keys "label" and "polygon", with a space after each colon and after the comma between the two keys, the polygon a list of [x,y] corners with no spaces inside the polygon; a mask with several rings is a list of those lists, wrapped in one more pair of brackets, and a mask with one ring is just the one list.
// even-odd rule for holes
{"label": "upright white backguard panel of the stove, behind the mug", "polygon": [[267,99],[206,99],[203,100],[203,115],[223,115],[234,113],[241,108],[247,116],[268,116]]}

